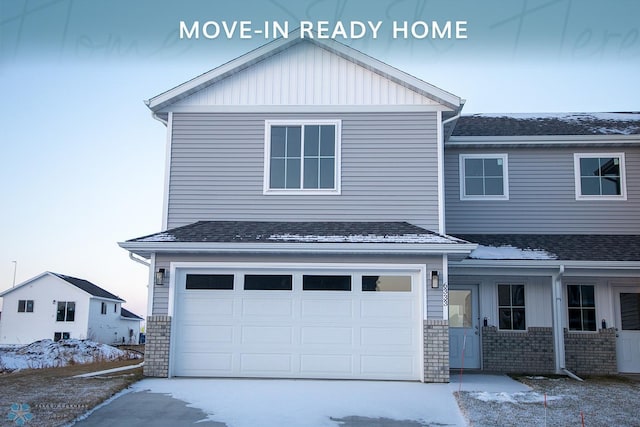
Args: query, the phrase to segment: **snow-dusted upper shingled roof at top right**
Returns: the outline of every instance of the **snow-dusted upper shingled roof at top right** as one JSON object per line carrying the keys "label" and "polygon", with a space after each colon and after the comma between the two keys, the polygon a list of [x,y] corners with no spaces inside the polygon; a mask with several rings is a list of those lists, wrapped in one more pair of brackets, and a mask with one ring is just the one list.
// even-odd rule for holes
{"label": "snow-dusted upper shingled roof at top right", "polygon": [[472,114],[461,116],[452,137],[640,135],[640,112]]}

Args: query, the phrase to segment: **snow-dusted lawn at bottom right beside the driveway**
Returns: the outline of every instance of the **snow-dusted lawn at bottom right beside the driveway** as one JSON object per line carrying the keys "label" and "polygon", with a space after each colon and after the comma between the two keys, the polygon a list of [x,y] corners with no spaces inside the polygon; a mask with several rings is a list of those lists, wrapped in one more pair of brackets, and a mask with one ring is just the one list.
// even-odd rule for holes
{"label": "snow-dusted lawn at bottom right beside the driveway", "polygon": [[[622,377],[522,377],[528,391],[465,389],[458,404],[470,425],[639,426],[640,383]],[[467,390],[467,391],[465,391]],[[583,424],[584,422],[584,424]]]}

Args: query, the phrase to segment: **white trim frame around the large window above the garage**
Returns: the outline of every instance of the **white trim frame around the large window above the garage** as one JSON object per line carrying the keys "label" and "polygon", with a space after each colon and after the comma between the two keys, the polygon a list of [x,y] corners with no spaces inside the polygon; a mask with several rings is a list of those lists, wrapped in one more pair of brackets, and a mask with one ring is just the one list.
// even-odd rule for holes
{"label": "white trim frame around the large window above the garage", "polygon": [[[334,168],[334,188],[275,188],[269,187],[271,176],[271,126],[300,126],[300,125],[333,125],[336,127],[336,151]],[[265,120],[264,122],[264,184],[262,193],[265,195],[339,195],[342,192],[342,120]],[[303,139],[304,140],[304,139]],[[304,150],[304,147],[302,147]],[[304,163],[304,162],[302,162]],[[301,169],[301,174],[303,169]]]}

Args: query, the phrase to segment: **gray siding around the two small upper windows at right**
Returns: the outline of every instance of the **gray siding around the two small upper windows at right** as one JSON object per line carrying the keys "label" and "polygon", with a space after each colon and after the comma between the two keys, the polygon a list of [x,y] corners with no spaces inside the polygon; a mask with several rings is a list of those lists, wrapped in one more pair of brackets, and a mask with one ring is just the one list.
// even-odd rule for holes
{"label": "gray siding around the two small upper windows at right", "polygon": [[[446,148],[447,233],[638,234],[640,148]],[[627,200],[576,200],[574,153],[625,153]],[[509,200],[460,200],[459,154],[507,153]]]}

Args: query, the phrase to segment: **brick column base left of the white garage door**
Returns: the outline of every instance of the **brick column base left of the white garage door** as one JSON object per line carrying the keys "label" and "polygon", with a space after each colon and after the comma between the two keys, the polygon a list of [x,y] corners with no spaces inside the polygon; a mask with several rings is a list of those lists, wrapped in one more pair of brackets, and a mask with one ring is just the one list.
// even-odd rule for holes
{"label": "brick column base left of the white garage door", "polygon": [[146,338],[144,375],[147,377],[167,378],[169,376],[171,316],[147,317]]}

